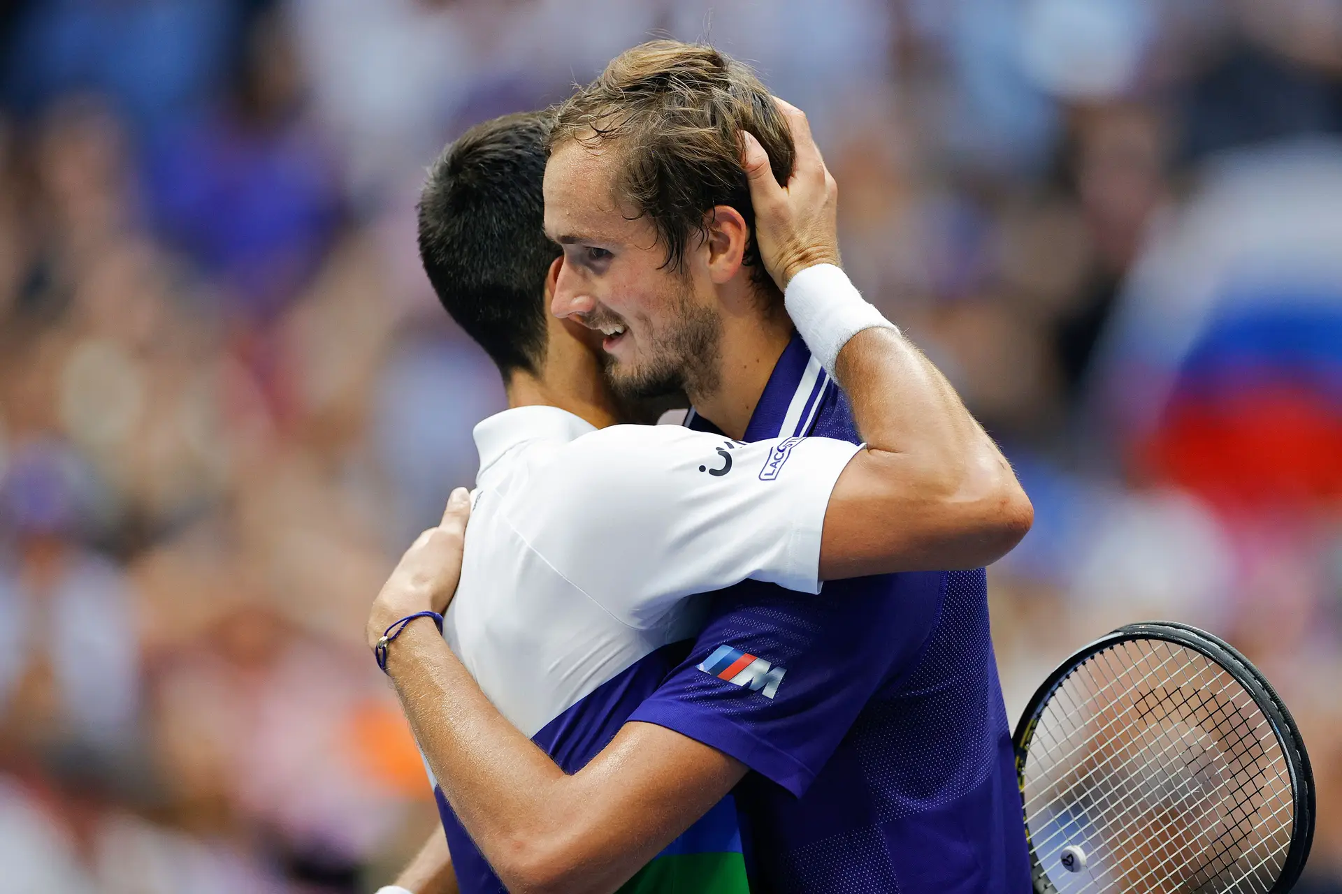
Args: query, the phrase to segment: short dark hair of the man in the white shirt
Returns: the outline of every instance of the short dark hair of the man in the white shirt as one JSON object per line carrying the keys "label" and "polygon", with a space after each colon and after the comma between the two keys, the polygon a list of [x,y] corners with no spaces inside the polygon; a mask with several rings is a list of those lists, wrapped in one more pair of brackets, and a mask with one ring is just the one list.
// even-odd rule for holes
{"label": "short dark hair of the man in the white shirt", "polygon": [[505,378],[545,361],[545,277],[560,256],[544,229],[550,126],[548,113],[519,113],[471,127],[420,193],[424,272]]}

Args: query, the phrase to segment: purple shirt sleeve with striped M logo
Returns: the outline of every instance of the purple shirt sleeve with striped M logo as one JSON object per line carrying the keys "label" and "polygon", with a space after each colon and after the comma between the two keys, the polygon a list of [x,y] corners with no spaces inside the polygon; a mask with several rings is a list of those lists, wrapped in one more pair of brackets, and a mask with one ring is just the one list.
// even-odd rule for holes
{"label": "purple shirt sleeve with striped M logo", "polygon": [[733,587],[629,720],[731,755],[800,797],[871,698],[917,666],[945,582],[939,571],[831,580],[827,599]]}

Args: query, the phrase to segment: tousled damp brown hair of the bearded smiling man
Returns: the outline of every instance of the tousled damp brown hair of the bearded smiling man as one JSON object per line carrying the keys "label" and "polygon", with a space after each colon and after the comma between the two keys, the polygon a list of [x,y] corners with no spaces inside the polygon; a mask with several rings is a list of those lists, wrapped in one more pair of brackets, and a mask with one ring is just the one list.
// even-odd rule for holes
{"label": "tousled damp brown hair of the bearded smiling man", "polygon": [[558,107],[550,149],[570,139],[619,146],[616,189],[656,227],[672,269],[682,269],[690,239],[707,235],[715,205],[735,208],[752,233],[745,264],[758,285],[773,288],[754,241],[741,130],[760,141],[774,178],[786,184],[792,133],[756,74],[709,46],[652,40],[621,52]]}

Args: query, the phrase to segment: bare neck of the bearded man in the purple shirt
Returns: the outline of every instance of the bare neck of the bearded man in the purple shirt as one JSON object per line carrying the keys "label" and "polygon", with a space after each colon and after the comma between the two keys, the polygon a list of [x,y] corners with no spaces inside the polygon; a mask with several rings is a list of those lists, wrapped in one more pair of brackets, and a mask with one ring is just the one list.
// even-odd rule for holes
{"label": "bare neck of the bearded man in the purple shirt", "polygon": [[694,410],[730,438],[741,440],[778,358],[792,340],[792,320],[782,303],[727,315],[722,327],[722,370],[711,394],[690,394]]}

